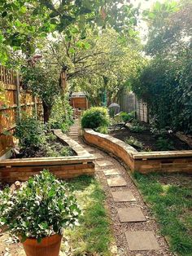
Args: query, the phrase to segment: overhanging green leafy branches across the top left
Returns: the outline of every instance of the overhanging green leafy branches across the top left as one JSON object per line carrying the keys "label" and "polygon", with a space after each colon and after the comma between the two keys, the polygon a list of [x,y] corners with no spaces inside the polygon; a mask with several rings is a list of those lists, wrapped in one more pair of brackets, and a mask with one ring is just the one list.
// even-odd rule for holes
{"label": "overhanging green leafy branches across the top left", "polygon": [[[121,1],[34,1],[15,0],[0,2],[0,46],[1,63],[9,60],[10,47],[13,51],[22,51],[31,57],[36,48],[41,48],[41,39],[50,33],[81,34],[85,38],[85,25],[110,26],[129,38],[137,36],[134,27],[137,23],[137,8]],[[123,21],[123,22],[120,22]],[[89,47],[89,44],[76,42],[77,46]],[[71,50],[73,51],[73,49]]]}

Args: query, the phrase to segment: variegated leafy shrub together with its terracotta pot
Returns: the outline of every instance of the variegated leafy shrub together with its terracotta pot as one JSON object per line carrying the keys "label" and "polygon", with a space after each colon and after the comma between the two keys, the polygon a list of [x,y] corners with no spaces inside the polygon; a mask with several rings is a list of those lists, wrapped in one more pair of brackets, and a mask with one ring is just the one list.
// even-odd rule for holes
{"label": "variegated leafy shrub together with its terracotta pot", "polygon": [[28,256],[58,256],[63,228],[76,225],[79,214],[67,184],[48,170],[0,192],[0,224],[19,237]]}

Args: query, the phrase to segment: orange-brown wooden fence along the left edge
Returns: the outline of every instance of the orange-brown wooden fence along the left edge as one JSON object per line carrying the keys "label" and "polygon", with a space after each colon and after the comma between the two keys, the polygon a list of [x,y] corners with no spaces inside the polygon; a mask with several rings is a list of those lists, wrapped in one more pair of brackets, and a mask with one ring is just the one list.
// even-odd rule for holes
{"label": "orange-brown wooden fence along the left edge", "polygon": [[[1,96],[4,99],[1,100]],[[41,114],[41,102],[22,90],[19,73],[0,66],[0,157],[13,145],[13,130],[20,113]]]}

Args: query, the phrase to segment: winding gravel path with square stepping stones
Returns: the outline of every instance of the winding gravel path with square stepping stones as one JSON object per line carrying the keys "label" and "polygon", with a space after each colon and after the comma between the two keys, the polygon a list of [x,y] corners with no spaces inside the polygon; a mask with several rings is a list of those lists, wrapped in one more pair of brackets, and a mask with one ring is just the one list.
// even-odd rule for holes
{"label": "winding gravel path with square stepping stones", "polygon": [[160,236],[155,218],[152,218],[128,170],[125,170],[119,161],[107,153],[85,144],[78,137],[78,130],[78,121],[75,121],[69,136],[81,143],[96,158],[96,177],[107,196],[107,209],[116,237],[118,255],[172,255],[164,236]]}

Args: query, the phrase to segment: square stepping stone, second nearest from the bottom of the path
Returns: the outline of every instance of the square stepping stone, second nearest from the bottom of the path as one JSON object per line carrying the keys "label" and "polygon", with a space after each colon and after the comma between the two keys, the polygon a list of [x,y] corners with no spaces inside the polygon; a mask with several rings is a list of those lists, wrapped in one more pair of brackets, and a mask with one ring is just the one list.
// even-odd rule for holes
{"label": "square stepping stone, second nearest from the bottom of the path", "polygon": [[142,210],[139,207],[127,207],[118,209],[118,215],[121,223],[136,223],[146,221]]}

